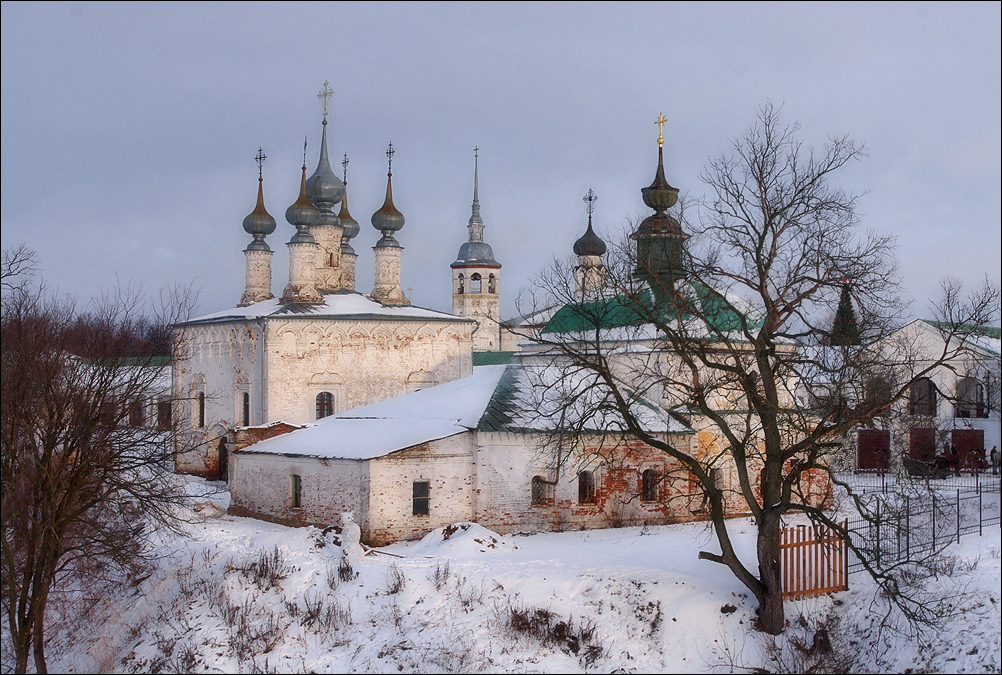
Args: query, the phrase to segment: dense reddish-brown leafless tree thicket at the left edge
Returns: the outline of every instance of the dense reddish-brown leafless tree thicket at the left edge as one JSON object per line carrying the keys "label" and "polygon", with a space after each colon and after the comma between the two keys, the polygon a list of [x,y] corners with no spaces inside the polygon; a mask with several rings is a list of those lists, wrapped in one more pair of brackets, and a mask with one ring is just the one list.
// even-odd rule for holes
{"label": "dense reddish-brown leafless tree thicket at the left edge", "polygon": [[191,302],[167,291],[150,307],[123,289],[80,310],[15,282],[32,259],[4,254],[0,582],[15,670],[33,653],[43,673],[53,593],[137,578],[154,526],[179,526],[171,432],[145,413],[170,382],[150,326],[185,318]]}

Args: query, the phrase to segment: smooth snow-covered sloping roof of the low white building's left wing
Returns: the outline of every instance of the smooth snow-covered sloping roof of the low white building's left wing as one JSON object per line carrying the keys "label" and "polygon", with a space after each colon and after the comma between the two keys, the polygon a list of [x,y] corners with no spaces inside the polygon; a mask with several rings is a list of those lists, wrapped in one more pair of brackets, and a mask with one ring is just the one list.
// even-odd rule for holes
{"label": "smooth snow-covered sloping roof of the low white building's left wing", "polygon": [[355,408],[239,451],[327,459],[371,460],[475,429],[504,366],[396,399]]}

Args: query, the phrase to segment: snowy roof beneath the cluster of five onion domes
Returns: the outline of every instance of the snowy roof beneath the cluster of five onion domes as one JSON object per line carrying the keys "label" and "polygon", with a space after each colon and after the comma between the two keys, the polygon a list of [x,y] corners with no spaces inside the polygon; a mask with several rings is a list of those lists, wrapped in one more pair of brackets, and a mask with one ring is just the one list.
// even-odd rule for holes
{"label": "snowy roof beneath the cluster of five onion domes", "polygon": [[444,311],[426,309],[410,304],[382,304],[354,290],[334,290],[323,294],[322,302],[286,302],[277,297],[262,300],[243,307],[231,307],[210,314],[198,316],[189,321],[192,323],[216,323],[224,321],[250,320],[256,318],[288,318],[304,316],[309,318],[342,318],[381,320],[424,320],[424,321],[470,321]]}

